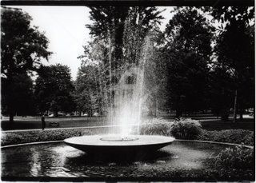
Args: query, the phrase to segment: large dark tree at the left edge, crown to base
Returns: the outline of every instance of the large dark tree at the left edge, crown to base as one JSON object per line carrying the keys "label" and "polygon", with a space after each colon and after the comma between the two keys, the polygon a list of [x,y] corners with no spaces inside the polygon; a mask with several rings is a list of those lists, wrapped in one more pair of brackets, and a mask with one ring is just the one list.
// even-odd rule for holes
{"label": "large dark tree at the left edge, crown to base", "polygon": [[19,98],[30,90],[29,82],[20,79],[28,81],[28,74],[37,70],[42,65],[42,58],[47,59],[50,52],[44,34],[30,26],[32,18],[29,14],[2,8],[1,18],[2,109],[9,114],[10,121],[14,121],[14,113],[21,109],[17,107]]}

